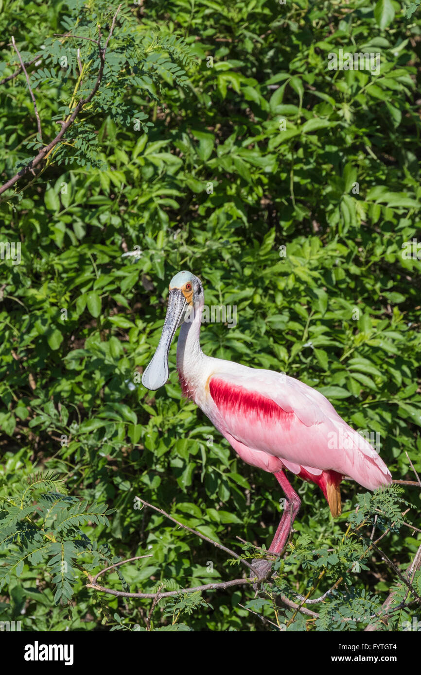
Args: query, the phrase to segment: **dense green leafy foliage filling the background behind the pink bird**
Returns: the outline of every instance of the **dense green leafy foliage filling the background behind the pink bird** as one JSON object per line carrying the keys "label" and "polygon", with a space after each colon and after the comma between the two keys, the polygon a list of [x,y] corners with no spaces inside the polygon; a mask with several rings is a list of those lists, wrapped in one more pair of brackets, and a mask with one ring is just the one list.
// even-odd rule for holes
{"label": "dense green leafy foliage filling the background behind the pink bird", "polygon": [[[97,45],[54,33],[97,41],[100,24],[103,47],[118,3],[5,4],[0,79],[18,68],[10,35],[24,61],[42,55],[27,70],[47,144],[100,67]],[[21,244],[20,263],[0,260],[0,619],[24,610],[22,630],[57,631],[402,630],[419,614],[370,549],[374,529],[407,570],[416,486],[371,495],[344,481],[332,520],[320,490],[292,479],[296,532],[255,600],[248,586],[182,594],[243,572],[137,497],[247,560],[279,516],[273,477],[182,400],[175,348],[166,386],[152,396],[140,383],[180,269],[201,277],[209,306],[236,307],[236,325],[203,325],[207,354],[316,387],[374,434],[395,479],[415,479],[410,460],[421,472],[420,32],[408,1],[122,7],[97,94],[42,173],[0,202],[0,242]],[[339,49],[378,53],[379,72],[328,70]],[[5,182],[41,139],[24,75],[0,96]],[[84,572],[134,556],[151,557],[99,583],[177,591],[149,624],[151,599],[86,588]],[[306,605],[314,620],[280,601],[320,597],[341,577]],[[385,624],[391,592],[391,608],[405,606]]]}

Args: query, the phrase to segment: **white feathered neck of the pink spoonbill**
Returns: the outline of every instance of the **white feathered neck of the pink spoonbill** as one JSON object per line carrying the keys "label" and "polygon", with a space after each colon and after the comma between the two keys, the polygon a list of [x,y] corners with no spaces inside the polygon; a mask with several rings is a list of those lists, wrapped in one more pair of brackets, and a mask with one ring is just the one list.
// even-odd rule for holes
{"label": "white feathered neck of the pink spoonbill", "polygon": [[193,396],[199,385],[201,362],[205,358],[200,347],[200,326],[203,300],[191,308],[187,321],[182,323],[177,343],[177,370],[184,396]]}

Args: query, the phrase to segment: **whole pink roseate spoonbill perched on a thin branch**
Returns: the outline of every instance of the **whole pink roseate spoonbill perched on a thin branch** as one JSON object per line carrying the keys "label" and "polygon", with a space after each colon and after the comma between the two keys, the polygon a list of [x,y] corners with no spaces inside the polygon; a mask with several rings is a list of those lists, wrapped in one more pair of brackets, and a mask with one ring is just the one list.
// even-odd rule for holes
{"label": "whole pink roseate spoonbill perched on a thin branch", "polygon": [[[284,491],[286,504],[270,552],[282,552],[301,504],[285,469],[316,483],[332,516],[341,513],[339,486],[343,477],[370,490],[391,483],[385,462],[319,391],[282,373],[203,354],[200,279],[187,271],[178,272],[169,288],[161,339],[142,383],[153,390],[166,383],[168,352],[176,329],[181,327],[177,370],[182,393],[195,401],[241,459],[273,473]],[[270,564],[259,562],[260,573],[268,571]]]}

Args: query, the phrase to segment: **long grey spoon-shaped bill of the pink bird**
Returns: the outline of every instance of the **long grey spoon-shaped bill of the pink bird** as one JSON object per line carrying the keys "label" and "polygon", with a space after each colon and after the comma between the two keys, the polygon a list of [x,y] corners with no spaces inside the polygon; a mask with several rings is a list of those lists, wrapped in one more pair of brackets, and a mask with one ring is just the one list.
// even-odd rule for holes
{"label": "long grey spoon-shaped bill of the pink bird", "polygon": [[168,352],[170,351],[176,329],[184,321],[186,304],[186,299],[180,290],[176,288],[170,290],[161,338],[152,360],[142,375],[142,384],[147,389],[155,391],[155,389],[162,387],[168,380],[168,376],[170,375],[170,371],[168,370]]}

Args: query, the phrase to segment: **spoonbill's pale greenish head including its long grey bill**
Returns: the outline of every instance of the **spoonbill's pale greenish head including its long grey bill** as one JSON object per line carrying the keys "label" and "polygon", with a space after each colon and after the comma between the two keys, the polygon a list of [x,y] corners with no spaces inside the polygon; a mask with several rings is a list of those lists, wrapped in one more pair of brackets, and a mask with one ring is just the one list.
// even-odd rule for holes
{"label": "spoonbill's pale greenish head including its long grey bill", "polygon": [[200,279],[187,271],[178,272],[170,281],[168,307],[161,338],[152,360],[142,375],[142,384],[147,389],[159,389],[168,380],[168,352],[176,329],[191,317],[191,311],[203,300]]}

